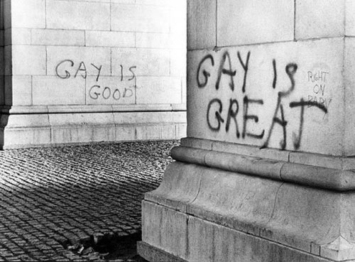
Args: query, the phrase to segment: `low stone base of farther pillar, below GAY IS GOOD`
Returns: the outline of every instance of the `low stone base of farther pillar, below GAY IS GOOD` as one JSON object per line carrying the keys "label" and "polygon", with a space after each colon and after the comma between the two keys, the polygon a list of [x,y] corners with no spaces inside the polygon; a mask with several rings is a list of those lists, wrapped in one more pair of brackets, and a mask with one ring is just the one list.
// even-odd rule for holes
{"label": "low stone base of farther pillar, below GAY IS GOOD", "polygon": [[185,111],[109,109],[94,107],[88,111],[86,107],[13,107],[0,117],[0,147],[167,140],[180,139],[186,134]]}

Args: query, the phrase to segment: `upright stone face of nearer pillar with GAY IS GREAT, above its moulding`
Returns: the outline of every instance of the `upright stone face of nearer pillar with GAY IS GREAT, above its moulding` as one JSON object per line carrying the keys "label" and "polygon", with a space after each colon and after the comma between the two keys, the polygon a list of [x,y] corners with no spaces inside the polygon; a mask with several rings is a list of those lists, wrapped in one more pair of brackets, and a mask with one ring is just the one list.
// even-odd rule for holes
{"label": "upright stone face of nearer pillar with GAY IS GREAT, above its moulding", "polygon": [[353,1],[194,0],[188,11],[188,136],[354,155]]}

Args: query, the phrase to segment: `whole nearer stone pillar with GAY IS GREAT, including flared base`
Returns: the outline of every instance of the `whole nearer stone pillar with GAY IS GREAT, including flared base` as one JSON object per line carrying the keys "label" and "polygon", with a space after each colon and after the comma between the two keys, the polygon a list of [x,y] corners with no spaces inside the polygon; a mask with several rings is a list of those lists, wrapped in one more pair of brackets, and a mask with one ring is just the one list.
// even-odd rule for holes
{"label": "whole nearer stone pillar with GAY IS GREAT, including flared base", "polygon": [[187,138],[143,200],[143,256],[355,259],[354,13],[189,1]]}

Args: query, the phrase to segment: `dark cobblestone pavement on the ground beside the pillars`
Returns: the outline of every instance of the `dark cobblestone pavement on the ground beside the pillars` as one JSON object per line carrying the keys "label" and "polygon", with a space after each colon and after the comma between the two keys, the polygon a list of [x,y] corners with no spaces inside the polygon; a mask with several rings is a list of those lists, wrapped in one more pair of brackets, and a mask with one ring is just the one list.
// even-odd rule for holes
{"label": "dark cobblestone pavement on the ground beside the pillars", "polygon": [[[178,141],[0,151],[0,261],[87,261],[65,244],[134,234]],[[63,246],[64,245],[64,246]]]}

